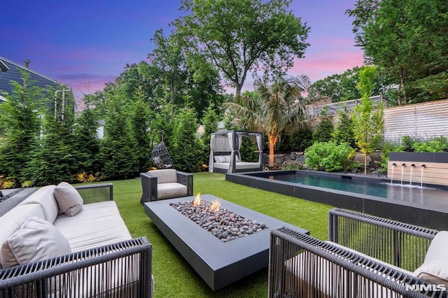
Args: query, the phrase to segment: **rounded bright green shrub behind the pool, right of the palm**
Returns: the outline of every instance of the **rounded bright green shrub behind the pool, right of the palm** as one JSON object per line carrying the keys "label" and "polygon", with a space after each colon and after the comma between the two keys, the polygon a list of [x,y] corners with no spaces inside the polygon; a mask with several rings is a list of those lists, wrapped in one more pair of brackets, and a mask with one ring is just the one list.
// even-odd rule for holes
{"label": "rounded bright green shrub behind the pool, right of the palm", "polygon": [[314,170],[347,171],[356,165],[354,156],[355,150],[347,143],[318,142],[305,150],[305,163]]}

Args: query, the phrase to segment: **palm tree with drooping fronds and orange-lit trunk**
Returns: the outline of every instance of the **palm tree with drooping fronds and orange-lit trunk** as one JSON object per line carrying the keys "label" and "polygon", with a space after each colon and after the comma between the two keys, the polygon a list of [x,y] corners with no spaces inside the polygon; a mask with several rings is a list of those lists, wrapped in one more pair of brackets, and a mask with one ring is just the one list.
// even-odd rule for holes
{"label": "palm tree with drooping fronds and orange-lit trunk", "polygon": [[241,125],[250,130],[262,131],[269,140],[269,166],[274,166],[275,144],[281,134],[296,132],[309,123],[305,108],[308,101],[302,92],[309,87],[309,78],[279,78],[272,85],[257,78],[253,96],[245,94],[236,102],[224,106],[237,114]]}

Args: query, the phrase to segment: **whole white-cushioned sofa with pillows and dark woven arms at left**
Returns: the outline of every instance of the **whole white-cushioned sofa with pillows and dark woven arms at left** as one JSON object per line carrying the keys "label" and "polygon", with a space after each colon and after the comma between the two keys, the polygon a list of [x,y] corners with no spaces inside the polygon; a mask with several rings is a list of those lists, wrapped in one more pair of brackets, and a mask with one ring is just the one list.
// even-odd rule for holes
{"label": "whole white-cushioned sofa with pillows and dark woven arms at left", "polygon": [[152,246],[111,184],[47,185],[0,218],[0,298],[152,297]]}

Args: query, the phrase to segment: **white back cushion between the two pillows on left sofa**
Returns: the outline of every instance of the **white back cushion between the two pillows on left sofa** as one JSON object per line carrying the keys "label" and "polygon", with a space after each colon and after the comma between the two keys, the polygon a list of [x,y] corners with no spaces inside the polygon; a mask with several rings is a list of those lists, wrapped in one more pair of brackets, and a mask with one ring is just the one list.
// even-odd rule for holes
{"label": "white back cushion between the two pillows on left sofa", "polygon": [[53,223],[59,214],[59,206],[57,206],[54,191],[56,185],[46,185],[39,188],[27,197],[20,205],[25,204],[39,204],[41,205],[45,220]]}

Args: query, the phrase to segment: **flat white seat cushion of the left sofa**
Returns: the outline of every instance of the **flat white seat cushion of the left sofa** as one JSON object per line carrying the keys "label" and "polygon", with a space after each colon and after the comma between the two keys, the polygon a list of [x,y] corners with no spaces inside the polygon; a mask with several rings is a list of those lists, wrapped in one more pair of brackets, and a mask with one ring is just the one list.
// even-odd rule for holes
{"label": "flat white seat cushion of the left sofa", "polygon": [[55,227],[73,252],[132,239],[115,201],[85,204],[73,217],[61,214]]}

